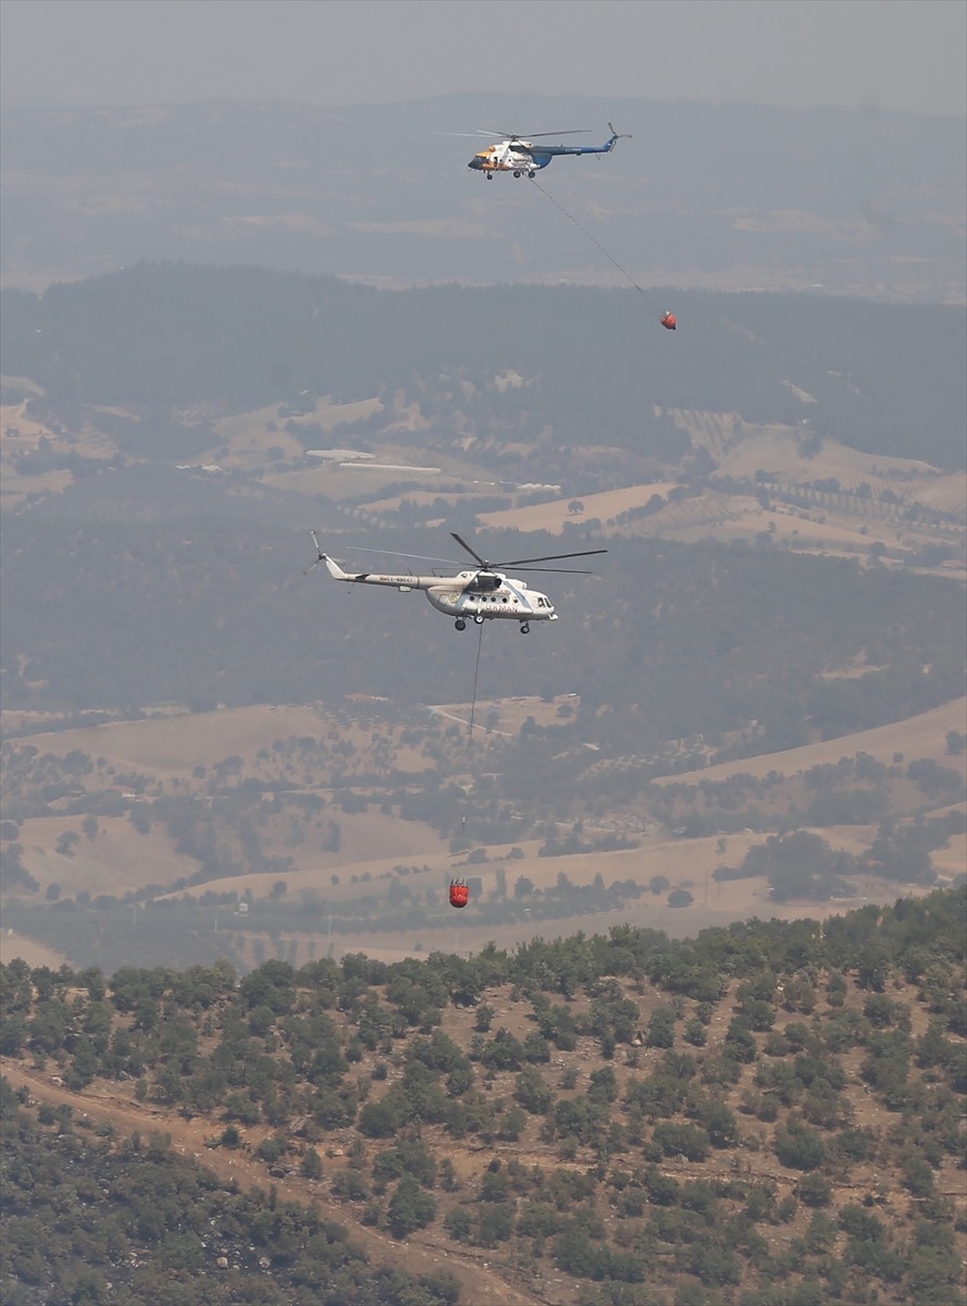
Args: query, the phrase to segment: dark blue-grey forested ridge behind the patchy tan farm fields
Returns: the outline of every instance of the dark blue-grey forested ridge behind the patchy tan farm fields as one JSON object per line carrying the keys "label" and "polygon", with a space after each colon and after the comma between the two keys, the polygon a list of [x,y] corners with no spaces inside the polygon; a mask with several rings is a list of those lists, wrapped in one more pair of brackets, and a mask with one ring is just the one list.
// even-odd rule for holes
{"label": "dark blue-grey forested ridge behind the patchy tan farm fields", "polygon": [[[141,264],[39,296],[5,291],[4,372],[55,404],[236,411],[403,388],[441,419],[442,381],[515,374],[531,424],[559,444],[632,447],[659,405],[808,421],[870,453],[964,465],[959,308],[706,293],[676,293],[673,307],[676,334],[634,290],[378,291],[268,269]],[[509,411],[519,409],[518,390]]]}

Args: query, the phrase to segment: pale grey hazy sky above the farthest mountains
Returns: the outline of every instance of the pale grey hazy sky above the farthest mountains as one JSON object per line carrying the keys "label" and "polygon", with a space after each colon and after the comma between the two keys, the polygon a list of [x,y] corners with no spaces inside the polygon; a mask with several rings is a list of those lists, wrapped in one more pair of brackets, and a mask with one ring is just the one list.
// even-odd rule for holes
{"label": "pale grey hazy sky above the farthest mountains", "polygon": [[967,112],[963,0],[1,0],[9,104],[453,91]]}

